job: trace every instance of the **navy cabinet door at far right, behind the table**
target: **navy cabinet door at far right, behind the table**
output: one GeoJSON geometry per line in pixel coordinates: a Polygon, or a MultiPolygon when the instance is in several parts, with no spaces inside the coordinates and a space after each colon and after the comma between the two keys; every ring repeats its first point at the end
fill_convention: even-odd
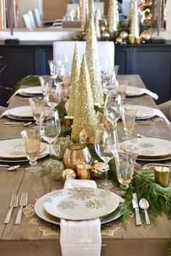
{"type": "Polygon", "coordinates": [[[146,87],[157,93],[157,104],[171,99],[171,48],[144,46],[133,49],[133,74],[138,74],[146,87]]]}

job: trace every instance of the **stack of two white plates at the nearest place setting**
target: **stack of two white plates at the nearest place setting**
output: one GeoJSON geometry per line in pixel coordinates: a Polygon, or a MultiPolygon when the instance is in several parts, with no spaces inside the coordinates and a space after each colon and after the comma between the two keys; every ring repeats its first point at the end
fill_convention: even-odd
{"type": "Polygon", "coordinates": [[[77,187],[59,189],[43,195],[35,205],[38,217],[50,223],[60,224],[60,218],[66,220],[90,220],[101,218],[108,223],[120,217],[118,208],[123,199],[111,191],[77,187]]]}

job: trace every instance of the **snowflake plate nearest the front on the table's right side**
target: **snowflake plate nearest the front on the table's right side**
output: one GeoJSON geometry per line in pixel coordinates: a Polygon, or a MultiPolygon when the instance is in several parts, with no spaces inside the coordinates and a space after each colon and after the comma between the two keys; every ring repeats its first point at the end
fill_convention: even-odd
{"type": "MultiPolygon", "coordinates": [[[[138,150],[138,158],[146,159],[157,157],[169,157],[171,154],[171,141],[158,138],[138,138],[124,141],[121,144],[130,144],[138,150]]],[[[160,159],[161,160],[161,159],[160,159]]]]}

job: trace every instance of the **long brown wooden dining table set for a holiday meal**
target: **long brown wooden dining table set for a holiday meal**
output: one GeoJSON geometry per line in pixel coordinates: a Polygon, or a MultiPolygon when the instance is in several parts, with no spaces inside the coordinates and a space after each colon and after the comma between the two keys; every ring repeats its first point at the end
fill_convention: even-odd
{"type": "MultiPolygon", "coordinates": [[[[144,88],[145,85],[139,75],[118,75],[118,80],[129,80],[129,86],[144,88]]],[[[16,95],[9,104],[9,109],[29,105],[28,99],[20,100],[22,96],[16,95]]],[[[151,96],[130,97],[125,100],[128,104],[141,104],[157,107],[151,96]]],[[[161,117],[152,118],[155,125],[135,125],[133,134],[143,133],[145,136],[164,136],[171,139],[171,130],[161,117]]],[[[0,139],[6,137],[21,137],[20,132],[25,128],[22,125],[14,127],[4,126],[9,118],[0,119],[0,139]]],[[[29,126],[29,128],[32,126],[29,126]]],[[[121,122],[118,123],[119,136],[124,134],[121,122]]],[[[43,160],[40,160],[41,164],[43,160]]],[[[2,163],[2,162],[1,162],[2,163]]],[[[12,194],[28,192],[28,205],[34,205],[36,199],[44,194],[57,189],[62,189],[64,183],[55,181],[49,176],[41,176],[41,172],[30,173],[24,167],[15,171],[7,168],[0,169],[0,255],[1,256],[60,256],[62,255],[59,236],[43,236],[37,225],[30,224],[33,216],[22,215],[20,225],[14,225],[17,209],[12,212],[9,224],[4,224],[4,219],[9,210],[12,194]]],[[[46,226],[46,221],[43,224],[46,226]]],[[[101,256],[167,256],[168,241],[171,236],[171,220],[166,215],[157,218],[156,225],[136,226],[135,215],[130,216],[126,229],[120,222],[114,220],[114,235],[102,235],[101,256]]],[[[86,255],[86,254],[85,254],[86,255]]],[[[87,254],[88,255],[88,254],[87,254]]],[[[91,256],[91,255],[88,255],[91,256]]]]}

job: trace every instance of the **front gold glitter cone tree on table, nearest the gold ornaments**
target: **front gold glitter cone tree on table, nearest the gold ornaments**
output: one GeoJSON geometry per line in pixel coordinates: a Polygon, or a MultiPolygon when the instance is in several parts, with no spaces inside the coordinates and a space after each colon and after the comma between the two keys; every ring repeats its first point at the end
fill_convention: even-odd
{"type": "MultiPolygon", "coordinates": [[[[91,56],[88,57],[89,59],[91,56]]],[[[75,98],[74,121],[72,125],[71,138],[78,141],[80,131],[86,125],[96,124],[96,112],[93,107],[93,96],[91,83],[86,64],[86,57],[83,55],[83,62],[80,67],[80,78],[78,83],[78,94],[75,98]]]]}

